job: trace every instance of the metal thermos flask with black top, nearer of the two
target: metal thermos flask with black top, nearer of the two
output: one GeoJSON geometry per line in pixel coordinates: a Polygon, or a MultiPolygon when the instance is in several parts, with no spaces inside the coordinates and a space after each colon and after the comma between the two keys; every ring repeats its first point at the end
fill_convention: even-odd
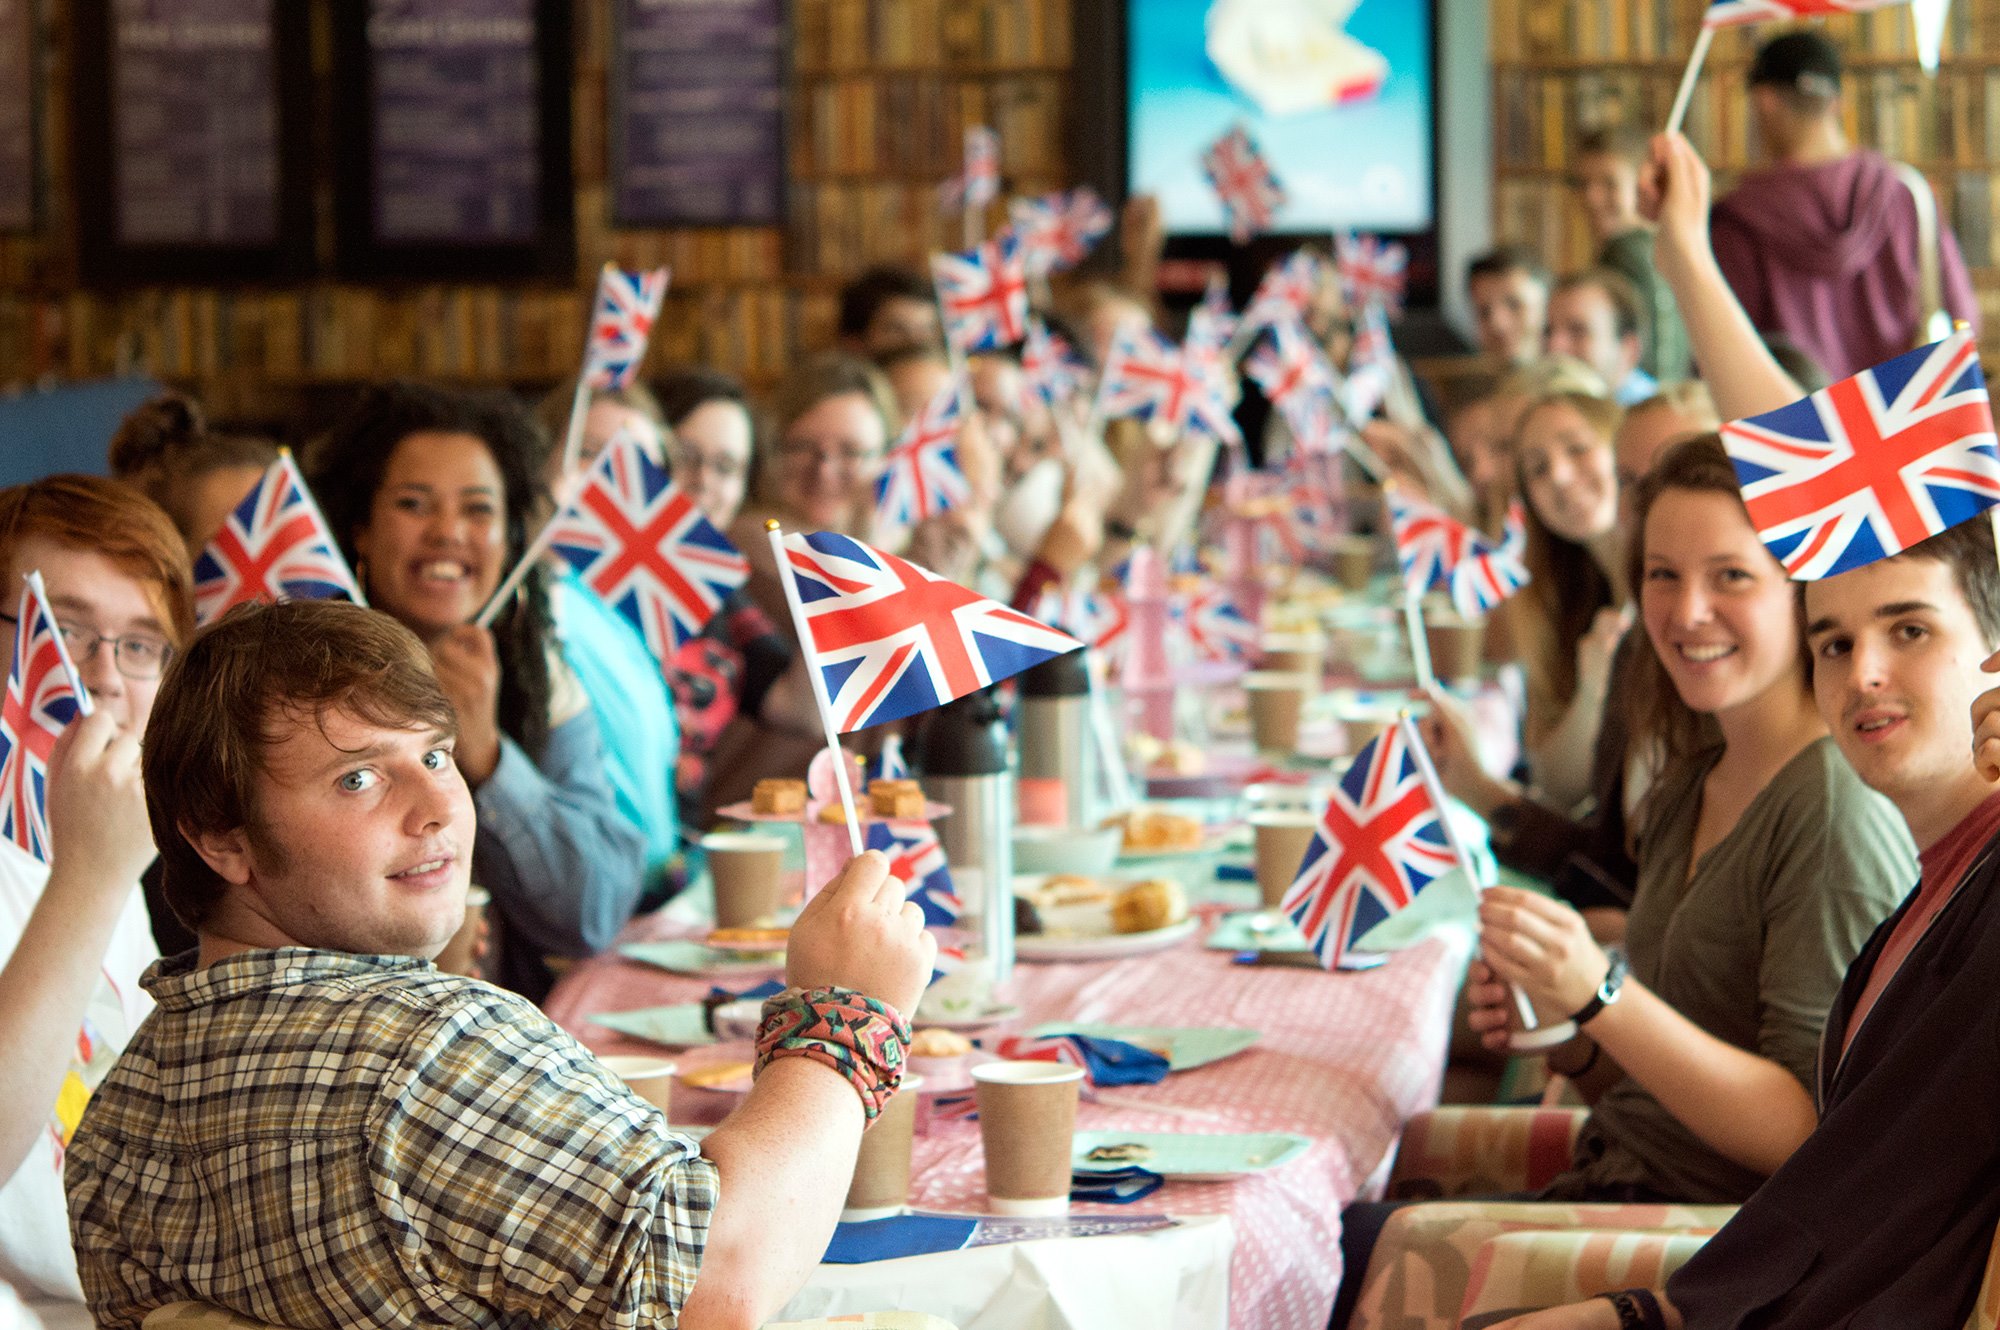
{"type": "Polygon", "coordinates": [[[964,904],[960,924],[978,934],[992,982],[1004,984],[1014,976],[1014,776],[996,688],[932,712],[920,758],[924,790],[952,806],[938,844],[964,904]]]}

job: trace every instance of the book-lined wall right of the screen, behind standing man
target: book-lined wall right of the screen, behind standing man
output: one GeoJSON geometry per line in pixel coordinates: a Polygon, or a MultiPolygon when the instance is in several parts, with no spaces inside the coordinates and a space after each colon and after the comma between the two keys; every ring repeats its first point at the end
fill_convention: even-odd
{"type": "MultiPolygon", "coordinates": [[[[1590,258],[1568,192],[1570,144],[1598,124],[1658,126],[1706,0],[1492,0],[1494,222],[1562,268],[1590,258]]],[[[1938,194],[1980,294],[1982,340],[2000,356],[2000,4],[1952,6],[1938,72],[1916,60],[1910,10],[1830,18],[1848,62],[1848,136],[1920,168],[1938,194]]],[[[1770,26],[1716,34],[1688,110],[1688,138],[1716,192],[1758,162],[1744,72],[1770,26]]]]}

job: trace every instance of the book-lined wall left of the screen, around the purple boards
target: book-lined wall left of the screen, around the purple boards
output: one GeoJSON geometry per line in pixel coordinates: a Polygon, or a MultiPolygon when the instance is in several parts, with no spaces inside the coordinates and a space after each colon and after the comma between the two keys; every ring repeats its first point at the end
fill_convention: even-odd
{"type": "Polygon", "coordinates": [[[768,386],[832,340],[846,278],[874,262],[922,264],[956,240],[936,188],[958,170],[968,124],[1000,132],[1010,190],[1066,182],[1070,0],[792,0],[786,224],[618,228],[606,188],[610,0],[574,0],[574,284],[88,290],[68,198],[68,10],[42,0],[42,220],[0,234],[0,386],[130,368],[240,418],[284,418],[302,396],[386,376],[536,390],[574,370],[606,260],[674,268],[650,368],[714,364],[768,386]]]}

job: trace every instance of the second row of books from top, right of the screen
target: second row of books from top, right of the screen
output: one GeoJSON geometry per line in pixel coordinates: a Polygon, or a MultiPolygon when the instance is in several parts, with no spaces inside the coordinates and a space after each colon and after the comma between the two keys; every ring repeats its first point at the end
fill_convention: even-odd
{"type": "MultiPolygon", "coordinates": [[[[1590,126],[1658,126],[1680,76],[1658,66],[1502,70],[1494,86],[1502,170],[1560,172],[1590,126]]],[[[1842,100],[1848,138],[1924,170],[2000,160],[2000,64],[1856,70],[1842,100]]],[[[1740,80],[1704,76],[1688,104],[1688,138],[1718,170],[1758,160],[1756,126],[1740,80]]]]}

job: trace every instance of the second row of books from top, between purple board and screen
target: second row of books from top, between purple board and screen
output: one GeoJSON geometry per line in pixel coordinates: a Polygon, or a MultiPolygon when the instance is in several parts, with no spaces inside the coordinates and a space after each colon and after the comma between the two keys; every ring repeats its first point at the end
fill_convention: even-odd
{"type": "Polygon", "coordinates": [[[1064,80],[838,78],[800,88],[792,116],[794,180],[870,174],[942,182],[958,172],[966,128],[978,124],[1000,134],[1004,178],[1050,176],[1062,150],[1064,80]]]}

